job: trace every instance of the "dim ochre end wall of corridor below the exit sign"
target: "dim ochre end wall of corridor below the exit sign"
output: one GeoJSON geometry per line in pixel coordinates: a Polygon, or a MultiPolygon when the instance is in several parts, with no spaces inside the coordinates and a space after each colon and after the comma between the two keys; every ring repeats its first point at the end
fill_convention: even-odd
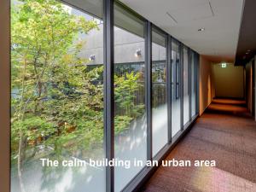
{"type": "Polygon", "coordinates": [[[216,97],[244,98],[243,67],[227,63],[212,65],[216,97]]]}

